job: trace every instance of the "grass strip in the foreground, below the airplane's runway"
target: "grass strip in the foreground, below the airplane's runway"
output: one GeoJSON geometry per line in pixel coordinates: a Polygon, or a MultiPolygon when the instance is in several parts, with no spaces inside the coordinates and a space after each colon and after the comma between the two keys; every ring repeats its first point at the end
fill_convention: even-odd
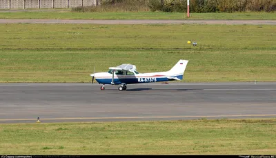
{"type": "Polygon", "coordinates": [[[276,119],[0,124],[0,155],[274,155],[276,119]]]}

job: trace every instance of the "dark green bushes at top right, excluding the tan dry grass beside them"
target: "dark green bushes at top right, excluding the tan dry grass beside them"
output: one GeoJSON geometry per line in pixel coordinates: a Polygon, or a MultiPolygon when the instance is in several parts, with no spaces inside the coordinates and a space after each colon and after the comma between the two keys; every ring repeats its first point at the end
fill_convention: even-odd
{"type": "MultiPolygon", "coordinates": [[[[152,11],[186,12],[187,0],[101,0],[102,4],[127,3],[152,11]]],[[[190,12],[274,12],[276,0],[190,0],[190,12]]]]}

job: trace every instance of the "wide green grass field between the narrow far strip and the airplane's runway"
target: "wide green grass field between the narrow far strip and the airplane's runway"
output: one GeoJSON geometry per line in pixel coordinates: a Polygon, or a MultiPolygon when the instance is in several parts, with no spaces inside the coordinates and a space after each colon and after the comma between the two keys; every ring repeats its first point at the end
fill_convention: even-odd
{"type": "Polygon", "coordinates": [[[132,63],[184,81],[275,81],[276,26],[1,24],[0,82],[90,82],[132,63]],[[187,41],[197,41],[197,46],[187,41]]]}

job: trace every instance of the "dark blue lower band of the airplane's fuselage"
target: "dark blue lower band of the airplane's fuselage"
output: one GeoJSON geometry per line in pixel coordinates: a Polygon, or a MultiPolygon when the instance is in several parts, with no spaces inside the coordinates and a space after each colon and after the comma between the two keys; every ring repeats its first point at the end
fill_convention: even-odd
{"type": "MultiPolygon", "coordinates": [[[[172,77],[177,77],[178,79],[183,79],[183,75],[178,75],[178,76],[172,76],[172,77]]],[[[134,84],[134,83],[150,83],[150,82],[159,82],[159,81],[172,81],[173,79],[168,79],[167,77],[137,77],[137,78],[119,78],[119,79],[114,79],[115,84],[121,84],[121,83],[126,83],[126,84],[134,84]],[[138,78],[139,81],[138,81],[138,78]],[[151,79],[150,79],[151,78],[151,79]],[[146,81],[145,81],[146,79],[146,81]],[[155,81],[156,79],[156,81],[155,81]],[[142,81],[141,81],[142,80],[142,81]],[[149,80],[149,81],[148,81],[149,80]]],[[[112,79],[97,79],[96,81],[101,84],[111,84],[112,79]]]]}

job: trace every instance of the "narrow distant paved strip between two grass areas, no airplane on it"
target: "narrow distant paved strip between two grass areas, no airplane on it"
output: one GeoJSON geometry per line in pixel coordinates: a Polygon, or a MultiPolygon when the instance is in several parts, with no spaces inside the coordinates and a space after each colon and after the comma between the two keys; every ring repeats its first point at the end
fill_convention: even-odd
{"type": "Polygon", "coordinates": [[[118,19],[118,20],[85,20],[85,19],[0,19],[0,23],[90,23],[90,24],[226,24],[226,25],[276,25],[276,20],[215,20],[215,19],[118,19]]]}

